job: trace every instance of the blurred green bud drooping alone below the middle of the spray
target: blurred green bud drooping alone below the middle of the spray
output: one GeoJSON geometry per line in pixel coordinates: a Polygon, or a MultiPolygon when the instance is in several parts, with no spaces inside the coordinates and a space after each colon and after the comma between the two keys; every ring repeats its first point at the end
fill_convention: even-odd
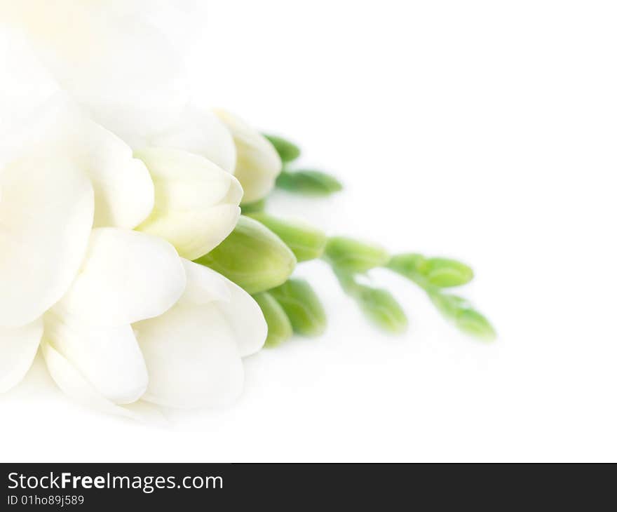
{"type": "Polygon", "coordinates": [[[354,296],[364,314],[380,328],[394,334],[407,330],[407,316],[388,290],[357,285],[354,296]]]}

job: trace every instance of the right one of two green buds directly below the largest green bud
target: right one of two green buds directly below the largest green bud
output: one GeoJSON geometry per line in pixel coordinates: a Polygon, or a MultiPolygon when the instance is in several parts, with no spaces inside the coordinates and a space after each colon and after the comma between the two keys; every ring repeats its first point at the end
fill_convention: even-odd
{"type": "Polygon", "coordinates": [[[324,332],[325,311],[319,297],[304,279],[290,279],[269,293],[283,307],[294,332],[304,336],[318,336],[324,332]]]}

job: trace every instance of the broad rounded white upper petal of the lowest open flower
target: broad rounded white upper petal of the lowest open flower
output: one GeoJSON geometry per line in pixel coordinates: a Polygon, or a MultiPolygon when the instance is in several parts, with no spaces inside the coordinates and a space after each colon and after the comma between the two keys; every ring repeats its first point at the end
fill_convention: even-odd
{"type": "Polygon", "coordinates": [[[137,231],[97,228],[79,276],[56,309],[90,325],[125,325],[167,311],[185,285],[170,243],[137,231]]]}

